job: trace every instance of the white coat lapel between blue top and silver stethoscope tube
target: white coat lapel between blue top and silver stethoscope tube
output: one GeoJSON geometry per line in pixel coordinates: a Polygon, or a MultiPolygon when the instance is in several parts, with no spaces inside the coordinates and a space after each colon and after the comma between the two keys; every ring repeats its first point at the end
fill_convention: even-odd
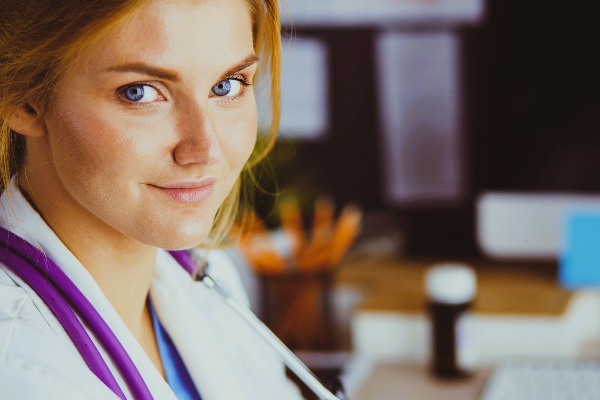
{"type": "MultiPolygon", "coordinates": [[[[208,260],[212,276],[226,267],[213,263],[210,255],[208,260]]],[[[163,250],[157,255],[150,295],[203,400],[302,398],[264,339],[214,289],[193,282],[163,250]]]]}

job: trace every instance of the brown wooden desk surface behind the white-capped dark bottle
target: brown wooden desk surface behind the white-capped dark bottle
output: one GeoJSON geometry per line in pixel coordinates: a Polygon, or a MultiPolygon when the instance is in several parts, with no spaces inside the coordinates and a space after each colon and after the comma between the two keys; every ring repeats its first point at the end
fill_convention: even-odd
{"type": "MultiPolygon", "coordinates": [[[[441,261],[349,256],[340,265],[336,283],[364,288],[362,311],[423,312],[425,270],[441,261]]],[[[475,267],[478,276],[475,312],[559,316],[572,297],[557,283],[556,265],[466,264],[475,267]]]]}

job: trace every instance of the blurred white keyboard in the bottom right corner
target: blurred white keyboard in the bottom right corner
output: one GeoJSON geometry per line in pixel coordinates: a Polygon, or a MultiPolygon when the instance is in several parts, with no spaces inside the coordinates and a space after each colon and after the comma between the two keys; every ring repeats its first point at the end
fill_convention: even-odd
{"type": "Polygon", "coordinates": [[[481,400],[600,400],[600,360],[500,363],[481,400]]]}

